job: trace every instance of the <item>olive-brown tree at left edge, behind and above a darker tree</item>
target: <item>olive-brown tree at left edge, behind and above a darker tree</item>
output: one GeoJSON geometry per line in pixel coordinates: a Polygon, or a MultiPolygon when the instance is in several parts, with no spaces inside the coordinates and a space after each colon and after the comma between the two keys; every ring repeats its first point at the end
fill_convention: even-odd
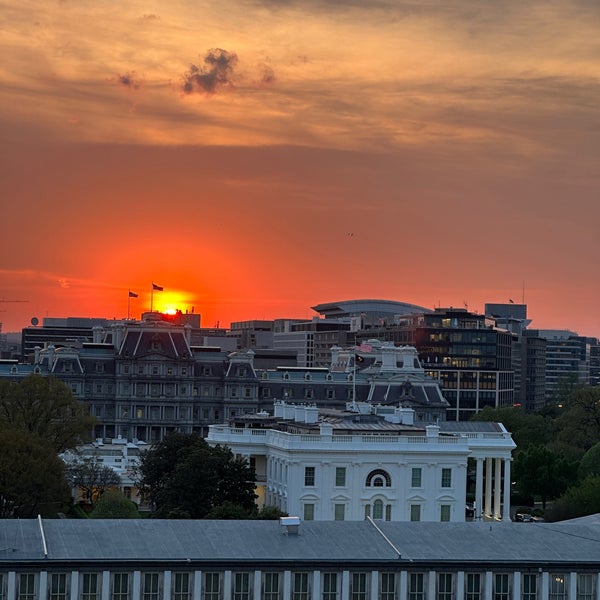
{"type": "Polygon", "coordinates": [[[0,381],[0,429],[27,431],[64,452],[89,439],[94,423],[87,406],[56,377],[0,381]]]}

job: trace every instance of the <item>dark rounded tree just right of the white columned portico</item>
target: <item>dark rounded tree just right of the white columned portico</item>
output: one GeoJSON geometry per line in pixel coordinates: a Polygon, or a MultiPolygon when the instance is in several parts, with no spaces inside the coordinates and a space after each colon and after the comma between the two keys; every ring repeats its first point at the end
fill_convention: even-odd
{"type": "Polygon", "coordinates": [[[560,496],[577,478],[576,465],[545,446],[529,446],[514,463],[514,479],[523,496],[539,496],[542,506],[560,496]]]}

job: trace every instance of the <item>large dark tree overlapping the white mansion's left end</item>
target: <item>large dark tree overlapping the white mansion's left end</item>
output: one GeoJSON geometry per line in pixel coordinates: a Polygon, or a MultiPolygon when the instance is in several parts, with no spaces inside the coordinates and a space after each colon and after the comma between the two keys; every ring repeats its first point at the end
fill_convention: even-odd
{"type": "Polygon", "coordinates": [[[205,518],[225,503],[255,508],[255,474],[229,448],[211,447],[193,434],[173,433],[141,457],[138,487],[154,507],[153,515],[205,518]]]}

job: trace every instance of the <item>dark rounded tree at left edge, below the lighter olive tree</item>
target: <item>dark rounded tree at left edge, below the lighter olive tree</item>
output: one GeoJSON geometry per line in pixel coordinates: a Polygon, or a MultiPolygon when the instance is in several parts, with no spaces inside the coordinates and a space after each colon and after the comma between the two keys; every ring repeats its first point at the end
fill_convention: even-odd
{"type": "Polygon", "coordinates": [[[0,431],[0,517],[54,515],[70,503],[65,465],[26,431],[0,431]]]}

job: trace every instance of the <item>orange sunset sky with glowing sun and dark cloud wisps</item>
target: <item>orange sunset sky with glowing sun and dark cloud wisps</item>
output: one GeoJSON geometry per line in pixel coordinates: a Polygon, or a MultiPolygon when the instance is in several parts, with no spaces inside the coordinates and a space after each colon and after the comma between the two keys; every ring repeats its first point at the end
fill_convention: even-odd
{"type": "Polygon", "coordinates": [[[0,0],[0,321],[381,298],[600,336],[600,3],[0,0]],[[6,302],[26,300],[26,302],[6,302]]]}

